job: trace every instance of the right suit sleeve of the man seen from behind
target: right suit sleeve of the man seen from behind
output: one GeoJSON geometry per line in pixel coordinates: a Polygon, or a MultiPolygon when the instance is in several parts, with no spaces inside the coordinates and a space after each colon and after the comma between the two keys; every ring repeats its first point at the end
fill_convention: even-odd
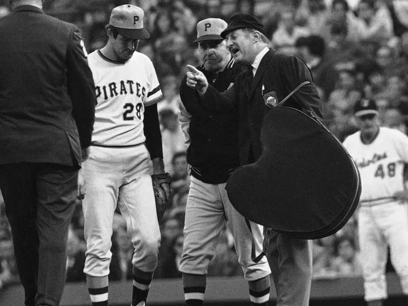
{"type": "Polygon", "coordinates": [[[67,89],[72,101],[72,113],[77,123],[81,147],[91,143],[95,119],[95,85],[88,66],[84,40],[75,27],[71,30],[66,54],[67,89]]]}

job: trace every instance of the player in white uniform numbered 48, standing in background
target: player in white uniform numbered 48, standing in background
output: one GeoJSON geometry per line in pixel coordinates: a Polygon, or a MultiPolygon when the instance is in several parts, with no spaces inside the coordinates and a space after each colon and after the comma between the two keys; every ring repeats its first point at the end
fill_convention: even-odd
{"type": "Polygon", "coordinates": [[[358,214],[365,300],[381,306],[387,298],[388,246],[391,262],[408,295],[408,214],[403,167],[408,162],[408,137],[380,127],[374,100],[354,106],[360,131],[348,136],[344,146],[357,164],[362,181],[358,214]]]}

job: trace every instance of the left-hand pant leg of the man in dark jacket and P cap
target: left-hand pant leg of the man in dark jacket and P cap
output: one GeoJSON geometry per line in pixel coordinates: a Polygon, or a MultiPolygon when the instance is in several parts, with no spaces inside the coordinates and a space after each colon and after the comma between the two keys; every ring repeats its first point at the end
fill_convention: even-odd
{"type": "Polygon", "coordinates": [[[208,264],[226,219],[217,185],[203,183],[191,176],[184,224],[180,271],[207,274],[208,264]]]}

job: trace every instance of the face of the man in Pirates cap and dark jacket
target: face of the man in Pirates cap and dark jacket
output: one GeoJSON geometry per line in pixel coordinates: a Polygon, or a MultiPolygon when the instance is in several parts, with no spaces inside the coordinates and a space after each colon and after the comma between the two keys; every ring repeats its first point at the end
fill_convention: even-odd
{"type": "Polygon", "coordinates": [[[205,40],[198,43],[200,59],[204,68],[216,72],[225,66],[230,51],[226,47],[225,40],[205,40]]]}

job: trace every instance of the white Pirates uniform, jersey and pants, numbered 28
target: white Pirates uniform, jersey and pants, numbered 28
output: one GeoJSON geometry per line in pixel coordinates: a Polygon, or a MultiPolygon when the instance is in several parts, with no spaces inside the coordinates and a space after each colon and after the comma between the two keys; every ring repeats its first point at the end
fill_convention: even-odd
{"type": "Polygon", "coordinates": [[[145,106],[162,99],[155,68],[135,52],[125,63],[107,59],[96,50],[88,56],[97,105],[83,200],[87,243],[84,272],[109,274],[112,223],[116,205],[126,220],[135,248],[134,267],[152,272],[157,266],[160,230],[144,144],[145,106]]]}

